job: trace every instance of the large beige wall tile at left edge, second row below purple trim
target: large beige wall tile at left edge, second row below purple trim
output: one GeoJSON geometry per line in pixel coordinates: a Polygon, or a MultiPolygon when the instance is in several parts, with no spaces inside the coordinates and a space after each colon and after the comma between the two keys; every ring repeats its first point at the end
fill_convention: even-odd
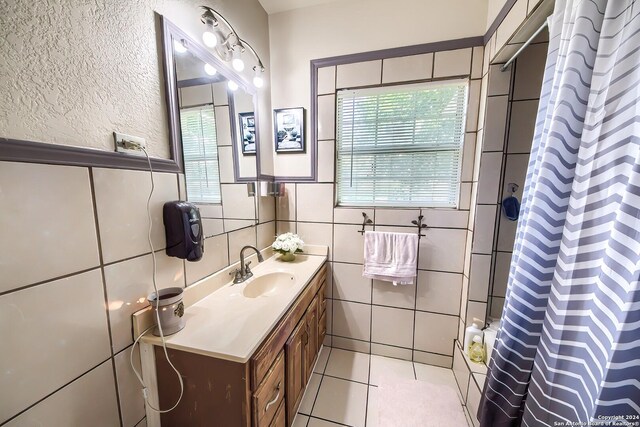
{"type": "Polygon", "coordinates": [[[111,356],[99,269],[0,296],[0,324],[0,422],[111,356]]]}

